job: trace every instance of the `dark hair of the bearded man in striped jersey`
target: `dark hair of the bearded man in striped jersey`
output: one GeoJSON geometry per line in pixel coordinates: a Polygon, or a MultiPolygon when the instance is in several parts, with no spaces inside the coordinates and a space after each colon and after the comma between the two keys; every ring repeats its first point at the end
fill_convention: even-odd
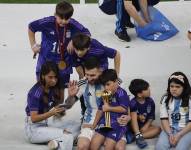
{"type": "Polygon", "coordinates": [[[85,60],[83,67],[87,70],[94,69],[94,68],[100,68],[100,62],[97,57],[89,57],[85,60]]]}

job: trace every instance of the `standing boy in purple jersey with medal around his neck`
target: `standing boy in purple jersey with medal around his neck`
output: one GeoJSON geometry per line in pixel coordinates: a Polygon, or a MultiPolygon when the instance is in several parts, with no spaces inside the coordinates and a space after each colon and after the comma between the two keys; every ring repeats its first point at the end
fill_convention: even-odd
{"type": "Polygon", "coordinates": [[[39,53],[36,75],[39,79],[39,72],[42,64],[51,60],[59,65],[60,69],[60,86],[61,99],[64,99],[64,88],[72,73],[72,60],[67,52],[67,48],[71,49],[71,38],[78,32],[90,35],[87,28],[76,20],[72,19],[73,7],[66,1],[61,1],[56,5],[55,16],[45,17],[29,24],[29,40],[34,55],[39,53]],[[37,44],[35,33],[41,32],[41,44],[37,44]]]}

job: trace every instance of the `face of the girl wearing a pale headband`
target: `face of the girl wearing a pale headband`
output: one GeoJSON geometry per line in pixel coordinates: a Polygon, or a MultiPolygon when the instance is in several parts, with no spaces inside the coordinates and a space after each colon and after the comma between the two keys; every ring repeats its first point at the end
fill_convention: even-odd
{"type": "Polygon", "coordinates": [[[183,87],[180,84],[174,82],[170,83],[170,93],[174,97],[179,97],[183,92],[183,87]]]}

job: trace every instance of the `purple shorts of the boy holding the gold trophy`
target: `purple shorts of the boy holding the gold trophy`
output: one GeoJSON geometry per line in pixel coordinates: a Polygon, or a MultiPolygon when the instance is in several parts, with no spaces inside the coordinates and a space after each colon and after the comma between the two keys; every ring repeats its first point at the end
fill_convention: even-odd
{"type": "Polygon", "coordinates": [[[119,129],[113,129],[110,131],[103,131],[101,129],[96,129],[95,132],[103,135],[106,138],[110,138],[116,142],[121,140],[121,138],[125,135],[127,131],[127,128],[124,126],[121,126],[119,129]]]}

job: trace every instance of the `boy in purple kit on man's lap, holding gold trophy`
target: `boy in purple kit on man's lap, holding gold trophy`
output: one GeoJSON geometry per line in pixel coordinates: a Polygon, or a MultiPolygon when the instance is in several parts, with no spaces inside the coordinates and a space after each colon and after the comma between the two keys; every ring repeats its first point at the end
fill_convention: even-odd
{"type": "Polygon", "coordinates": [[[127,126],[119,125],[117,118],[121,115],[129,114],[129,97],[127,92],[119,86],[115,70],[108,69],[103,71],[100,80],[104,85],[105,91],[110,91],[112,97],[109,103],[102,98],[102,103],[93,123],[93,129],[96,128],[96,133],[92,138],[90,147],[91,150],[97,150],[104,143],[105,149],[110,150],[115,148],[116,143],[123,139],[126,133],[127,126]],[[103,130],[101,128],[105,124],[106,112],[110,112],[112,130],[103,130]]]}

